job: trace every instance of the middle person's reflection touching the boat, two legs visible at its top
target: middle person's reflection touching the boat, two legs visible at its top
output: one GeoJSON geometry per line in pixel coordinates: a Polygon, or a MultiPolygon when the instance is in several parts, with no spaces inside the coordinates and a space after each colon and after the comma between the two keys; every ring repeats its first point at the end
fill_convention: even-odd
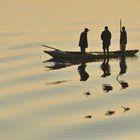
{"type": "Polygon", "coordinates": [[[109,65],[109,58],[104,58],[104,61],[101,65],[101,69],[103,71],[103,75],[101,75],[101,77],[106,77],[106,76],[109,76],[111,73],[110,73],[110,65],[109,65]]]}

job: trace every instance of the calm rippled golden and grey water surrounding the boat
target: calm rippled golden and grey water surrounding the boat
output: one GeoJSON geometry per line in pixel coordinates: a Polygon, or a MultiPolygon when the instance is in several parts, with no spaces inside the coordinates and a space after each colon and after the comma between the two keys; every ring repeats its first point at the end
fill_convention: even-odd
{"type": "Polygon", "coordinates": [[[51,57],[41,46],[77,51],[79,34],[88,27],[87,51],[101,51],[100,33],[108,25],[110,49],[117,50],[121,17],[127,48],[140,49],[139,4],[1,0],[0,139],[139,140],[140,53],[110,59],[104,69],[103,60],[45,62],[51,57]]]}

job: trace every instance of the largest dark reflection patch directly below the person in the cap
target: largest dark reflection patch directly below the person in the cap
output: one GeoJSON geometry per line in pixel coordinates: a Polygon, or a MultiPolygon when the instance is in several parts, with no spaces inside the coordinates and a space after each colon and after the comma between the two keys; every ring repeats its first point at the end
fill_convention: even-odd
{"type": "Polygon", "coordinates": [[[78,72],[80,74],[80,81],[86,81],[89,78],[89,74],[85,71],[86,64],[82,62],[78,67],[78,72]]]}

